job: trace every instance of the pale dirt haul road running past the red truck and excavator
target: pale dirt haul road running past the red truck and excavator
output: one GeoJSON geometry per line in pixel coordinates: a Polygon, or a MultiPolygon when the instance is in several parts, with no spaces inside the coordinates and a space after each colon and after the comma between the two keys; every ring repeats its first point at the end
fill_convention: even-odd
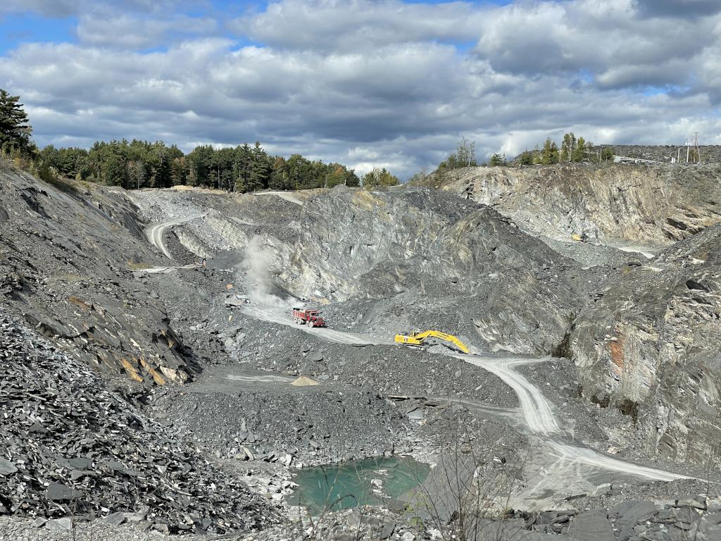
{"type": "MultiPolygon", "coordinates": [[[[357,333],[345,333],[340,330],[327,328],[310,328],[306,325],[298,326],[293,323],[293,320],[287,315],[285,309],[276,307],[244,307],[243,312],[260,320],[300,328],[306,333],[317,335],[329,342],[355,346],[363,344],[396,345],[391,340],[373,338],[357,333]]],[[[538,462],[539,466],[539,472],[536,477],[538,482],[535,486],[528,487],[523,491],[523,500],[538,503],[539,497],[535,494],[536,492],[547,492],[552,486],[568,488],[573,484],[574,480],[571,477],[574,474],[579,476],[579,482],[585,481],[588,483],[587,480],[593,478],[594,472],[598,472],[598,470],[618,472],[623,475],[633,475],[659,481],[689,479],[689,476],[686,475],[635,465],[601,454],[593,449],[568,443],[567,440],[570,439],[570,437],[567,436],[561,428],[552,403],[544,397],[538,387],[529,382],[523,374],[515,369],[517,366],[548,361],[549,358],[496,358],[479,355],[459,355],[456,353],[452,353],[452,355],[495,374],[513,389],[513,392],[516,392],[518,396],[518,403],[520,404],[518,410],[514,412],[516,413],[516,417],[521,416],[522,424],[525,426],[526,431],[529,435],[535,436],[542,447],[544,447],[544,451],[540,453],[541,456],[536,456],[533,459],[538,462]],[[549,456],[554,458],[553,462],[548,462],[549,456]]],[[[453,399],[451,398],[451,400],[453,399]]]]}

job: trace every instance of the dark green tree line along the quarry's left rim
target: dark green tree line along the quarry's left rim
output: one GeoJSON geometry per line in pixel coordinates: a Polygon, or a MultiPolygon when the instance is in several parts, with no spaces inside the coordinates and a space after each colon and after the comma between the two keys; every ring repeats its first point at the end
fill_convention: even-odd
{"type": "Polygon", "coordinates": [[[38,149],[31,133],[19,96],[0,89],[0,153],[43,180],[65,177],[127,189],[190,185],[229,192],[399,184],[385,169],[373,169],[361,179],[343,164],[310,160],[301,154],[272,156],[259,141],[228,148],[200,145],[188,154],[163,141],[137,139],[98,141],[90,149],[53,145],[38,149]]]}

